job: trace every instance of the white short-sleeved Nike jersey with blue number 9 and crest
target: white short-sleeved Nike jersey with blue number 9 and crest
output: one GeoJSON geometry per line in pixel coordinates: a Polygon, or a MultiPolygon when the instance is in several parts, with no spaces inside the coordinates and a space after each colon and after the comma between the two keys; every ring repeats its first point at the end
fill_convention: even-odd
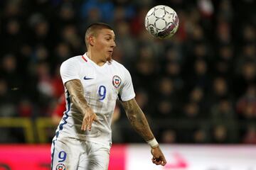
{"type": "Polygon", "coordinates": [[[92,129],[81,130],[83,115],[70,101],[70,94],[65,88],[66,108],[56,130],[58,137],[74,137],[79,140],[100,142],[110,145],[112,114],[117,98],[129,101],[135,97],[132,78],[128,70],[112,60],[102,67],[92,62],[87,55],[72,57],[60,66],[60,76],[65,82],[79,79],[88,105],[97,115],[99,122],[92,122],[92,129]]]}

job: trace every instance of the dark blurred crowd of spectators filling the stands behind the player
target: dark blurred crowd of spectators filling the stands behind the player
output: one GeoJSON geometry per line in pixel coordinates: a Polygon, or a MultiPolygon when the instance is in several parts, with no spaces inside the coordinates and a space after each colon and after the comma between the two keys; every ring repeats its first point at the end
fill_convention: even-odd
{"type": "MultiPolygon", "coordinates": [[[[132,74],[137,101],[159,142],[256,144],[253,4],[1,0],[0,117],[50,118],[63,95],[60,64],[84,54],[86,27],[101,21],[114,28],[114,60],[132,74]],[[158,4],[178,13],[178,32],[169,40],[152,38],[144,28],[146,12],[158,4]]],[[[114,120],[114,142],[142,141],[124,131],[122,107],[114,120]]]]}

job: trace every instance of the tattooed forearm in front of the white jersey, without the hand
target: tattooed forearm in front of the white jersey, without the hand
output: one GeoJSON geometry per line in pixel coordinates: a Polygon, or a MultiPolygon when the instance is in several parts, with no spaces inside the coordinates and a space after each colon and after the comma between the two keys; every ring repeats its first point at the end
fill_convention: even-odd
{"type": "Polygon", "coordinates": [[[75,107],[84,114],[85,109],[88,106],[85,97],[83,96],[82,84],[78,79],[70,80],[65,84],[70,94],[70,99],[74,103],[75,107]]]}

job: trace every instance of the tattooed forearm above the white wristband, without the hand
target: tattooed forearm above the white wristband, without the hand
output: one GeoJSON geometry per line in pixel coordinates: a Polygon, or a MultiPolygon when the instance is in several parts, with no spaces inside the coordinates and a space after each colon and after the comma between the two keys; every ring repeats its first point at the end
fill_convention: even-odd
{"type": "Polygon", "coordinates": [[[127,118],[132,124],[134,130],[136,130],[145,141],[153,139],[154,135],[149,128],[149,123],[137,102],[132,99],[132,101],[123,102],[122,104],[127,113],[127,118]]]}

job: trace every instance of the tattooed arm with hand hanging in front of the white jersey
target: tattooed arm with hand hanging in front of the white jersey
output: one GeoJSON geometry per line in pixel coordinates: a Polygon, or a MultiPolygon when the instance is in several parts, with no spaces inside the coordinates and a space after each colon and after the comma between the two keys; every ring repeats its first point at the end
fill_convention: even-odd
{"type": "Polygon", "coordinates": [[[84,115],[82,120],[81,130],[91,130],[92,121],[97,121],[97,115],[92,111],[92,108],[88,106],[81,81],[79,79],[73,79],[65,83],[65,87],[68,89],[70,99],[74,103],[75,107],[84,115]]]}

